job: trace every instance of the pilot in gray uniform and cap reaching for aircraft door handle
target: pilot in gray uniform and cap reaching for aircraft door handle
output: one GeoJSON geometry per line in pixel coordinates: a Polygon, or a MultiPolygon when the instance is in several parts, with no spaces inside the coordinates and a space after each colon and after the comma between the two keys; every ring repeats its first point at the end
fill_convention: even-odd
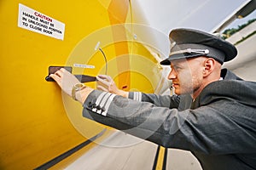
{"type": "Polygon", "coordinates": [[[61,69],[50,77],[84,107],[83,116],[167,148],[189,150],[208,170],[256,169],[256,82],[227,69],[236,47],[193,29],[170,32],[168,79],[175,95],[125,92],[111,77],[98,89],[61,69]]]}

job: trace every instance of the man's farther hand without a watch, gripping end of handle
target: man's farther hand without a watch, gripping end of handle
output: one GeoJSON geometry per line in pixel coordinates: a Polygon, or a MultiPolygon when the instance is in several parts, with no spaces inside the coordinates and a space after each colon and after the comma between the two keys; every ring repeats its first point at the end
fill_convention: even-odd
{"type": "Polygon", "coordinates": [[[108,77],[107,75],[99,75],[96,79],[97,89],[128,98],[128,92],[117,88],[111,77],[108,77]]]}

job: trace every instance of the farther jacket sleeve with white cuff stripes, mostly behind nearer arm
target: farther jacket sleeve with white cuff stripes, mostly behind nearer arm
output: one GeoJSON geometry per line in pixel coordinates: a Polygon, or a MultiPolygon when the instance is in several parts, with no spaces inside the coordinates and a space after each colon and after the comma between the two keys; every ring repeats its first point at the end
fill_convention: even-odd
{"type": "Polygon", "coordinates": [[[129,92],[128,98],[168,108],[177,108],[180,101],[180,97],[177,95],[143,94],[142,92],[129,92]]]}

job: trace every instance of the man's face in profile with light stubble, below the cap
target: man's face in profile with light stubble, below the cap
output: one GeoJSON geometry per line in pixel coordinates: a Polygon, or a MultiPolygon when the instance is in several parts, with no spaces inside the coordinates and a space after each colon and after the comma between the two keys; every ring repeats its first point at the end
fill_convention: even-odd
{"type": "Polygon", "coordinates": [[[168,79],[172,80],[175,94],[193,94],[201,88],[203,75],[201,58],[172,60],[168,79]]]}

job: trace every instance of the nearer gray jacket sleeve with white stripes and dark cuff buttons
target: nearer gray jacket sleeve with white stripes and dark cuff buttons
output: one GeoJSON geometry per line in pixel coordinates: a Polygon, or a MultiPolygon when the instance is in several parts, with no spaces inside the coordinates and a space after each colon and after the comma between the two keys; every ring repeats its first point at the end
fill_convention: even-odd
{"type": "Polygon", "coordinates": [[[255,109],[247,111],[248,120],[239,116],[247,109],[240,106],[237,116],[226,115],[235,107],[223,100],[178,111],[95,90],[84,102],[83,116],[168,148],[204,154],[254,152],[255,109]]]}

